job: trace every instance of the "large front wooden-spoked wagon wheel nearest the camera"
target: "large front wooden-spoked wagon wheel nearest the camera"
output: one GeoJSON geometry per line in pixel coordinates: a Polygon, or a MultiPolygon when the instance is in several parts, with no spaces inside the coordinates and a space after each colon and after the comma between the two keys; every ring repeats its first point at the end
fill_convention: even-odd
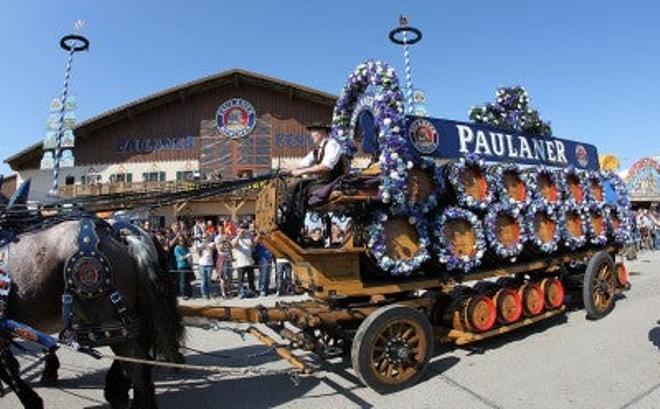
{"type": "Polygon", "coordinates": [[[376,310],[355,334],[353,369],[378,393],[405,389],[424,374],[433,354],[433,331],[421,312],[401,305],[376,310]]]}

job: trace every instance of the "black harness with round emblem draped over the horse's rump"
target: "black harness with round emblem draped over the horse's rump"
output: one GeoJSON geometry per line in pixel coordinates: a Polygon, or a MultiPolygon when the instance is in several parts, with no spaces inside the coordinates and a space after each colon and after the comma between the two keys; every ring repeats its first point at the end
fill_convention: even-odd
{"type": "Polygon", "coordinates": [[[78,251],[64,266],[65,290],[62,294],[62,320],[64,329],[60,340],[77,342],[88,347],[107,346],[135,339],[142,329],[137,313],[126,307],[115,286],[114,271],[107,257],[99,250],[96,231],[98,219],[83,218],[78,232],[78,251]],[[76,319],[76,303],[88,304],[107,300],[113,306],[119,321],[88,325],[76,319]]]}

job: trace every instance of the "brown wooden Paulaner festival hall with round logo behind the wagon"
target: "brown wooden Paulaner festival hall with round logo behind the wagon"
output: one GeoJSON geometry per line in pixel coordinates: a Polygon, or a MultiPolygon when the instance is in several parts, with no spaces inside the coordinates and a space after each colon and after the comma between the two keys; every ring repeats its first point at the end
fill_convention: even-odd
{"type": "MultiPolygon", "coordinates": [[[[122,192],[177,191],[191,182],[271,172],[312,148],[305,125],[330,123],[335,102],[335,95],[242,69],[178,85],[76,125],[75,166],[60,169],[59,193],[120,200],[122,192]]],[[[32,179],[32,199],[52,188],[44,157],[39,142],[5,160],[18,183],[32,179]]],[[[236,218],[254,213],[254,199],[211,197],[150,214],[161,224],[186,216],[236,218]]]]}

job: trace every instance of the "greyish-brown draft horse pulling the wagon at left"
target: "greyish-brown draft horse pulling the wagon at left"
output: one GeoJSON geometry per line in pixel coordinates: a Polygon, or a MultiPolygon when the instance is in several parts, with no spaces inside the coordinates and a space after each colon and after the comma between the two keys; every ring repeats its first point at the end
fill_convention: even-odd
{"type": "MultiPolygon", "coordinates": [[[[7,318],[45,333],[62,329],[63,270],[68,258],[78,249],[80,223],[80,220],[63,221],[23,233],[18,242],[10,245],[12,290],[7,318]]],[[[137,338],[111,345],[113,352],[139,359],[180,361],[183,326],[177,312],[176,293],[166,266],[160,262],[162,258],[159,260],[154,240],[144,232],[118,239],[107,224],[106,228],[97,228],[97,235],[98,250],[114,271],[116,289],[126,307],[134,310],[144,323],[137,338]]],[[[77,300],[73,304],[73,317],[74,322],[88,326],[118,321],[107,295],[77,300]]],[[[4,378],[26,408],[43,407],[41,398],[18,377],[18,363],[11,351],[8,348],[4,351],[7,352],[0,357],[0,378],[4,378]]],[[[48,355],[46,364],[44,375],[56,379],[59,364],[54,354],[48,355]]],[[[112,408],[129,407],[131,387],[133,407],[156,408],[151,366],[114,361],[104,389],[112,408]]]]}

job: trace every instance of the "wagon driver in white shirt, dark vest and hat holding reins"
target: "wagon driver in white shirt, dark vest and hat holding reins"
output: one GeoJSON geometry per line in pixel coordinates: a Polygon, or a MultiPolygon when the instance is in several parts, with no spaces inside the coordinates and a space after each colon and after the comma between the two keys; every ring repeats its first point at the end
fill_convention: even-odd
{"type": "Polygon", "coordinates": [[[296,184],[289,201],[292,211],[291,221],[294,224],[304,220],[309,196],[348,173],[350,166],[339,142],[330,138],[329,125],[312,123],[307,126],[307,131],[312,136],[314,149],[291,170],[292,176],[307,177],[296,184]]]}

